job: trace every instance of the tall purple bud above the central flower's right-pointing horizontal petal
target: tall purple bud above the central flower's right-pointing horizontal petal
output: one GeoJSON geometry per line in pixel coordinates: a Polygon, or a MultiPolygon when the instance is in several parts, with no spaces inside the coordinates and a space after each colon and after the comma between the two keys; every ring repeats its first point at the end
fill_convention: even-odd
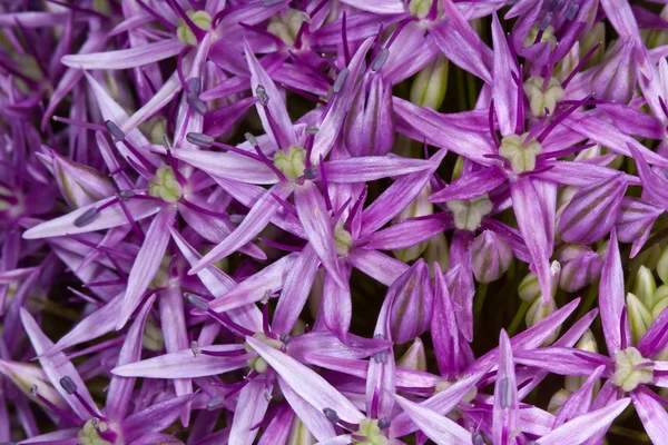
{"type": "Polygon", "coordinates": [[[392,88],[382,76],[369,79],[346,118],[345,141],[352,156],[385,156],[394,145],[392,88]]]}

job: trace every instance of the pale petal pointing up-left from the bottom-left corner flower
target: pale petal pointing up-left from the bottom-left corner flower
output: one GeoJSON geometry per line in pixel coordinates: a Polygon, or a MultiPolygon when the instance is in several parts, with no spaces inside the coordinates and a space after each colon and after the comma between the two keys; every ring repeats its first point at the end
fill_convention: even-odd
{"type": "MultiPolygon", "coordinates": [[[[75,414],[77,414],[80,418],[89,418],[90,413],[81,402],[73,395],[69,395],[62,385],[60,385],[60,379],[63,377],[69,377],[72,379],[75,385],[77,386],[77,392],[79,395],[86,400],[86,403],[95,409],[96,413],[100,414],[97,408],[97,405],[92,400],[90,393],[88,393],[88,388],[86,388],[86,384],[79,376],[77,368],[70,360],[67,359],[63,353],[55,353],[50,355],[42,355],[48,349],[53,346],[53,343],[41,332],[32,315],[24,308],[21,308],[21,322],[23,323],[23,328],[30,338],[30,343],[32,344],[32,348],[37,353],[39,357],[39,363],[42,366],[45,374],[51,380],[51,385],[60,393],[62,398],[72,407],[75,414]]],[[[100,414],[101,415],[101,414],[100,414]]]]}

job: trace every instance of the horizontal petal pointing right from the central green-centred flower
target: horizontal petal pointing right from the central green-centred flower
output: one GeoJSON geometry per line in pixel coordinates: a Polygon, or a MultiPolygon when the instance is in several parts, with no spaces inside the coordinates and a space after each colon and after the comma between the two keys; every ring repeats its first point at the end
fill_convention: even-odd
{"type": "Polygon", "coordinates": [[[366,182],[391,176],[413,174],[433,167],[431,160],[399,156],[364,156],[325,162],[327,180],[332,182],[366,182]]]}

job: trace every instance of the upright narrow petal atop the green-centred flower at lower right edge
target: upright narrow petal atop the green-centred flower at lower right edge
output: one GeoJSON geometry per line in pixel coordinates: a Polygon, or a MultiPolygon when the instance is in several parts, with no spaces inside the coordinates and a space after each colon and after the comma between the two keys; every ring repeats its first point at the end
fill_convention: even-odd
{"type": "Polygon", "coordinates": [[[617,244],[617,231],[612,229],[599,285],[601,323],[610,355],[615,355],[621,347],[621,313],[625,301],[621,257],[619,256],[619,246],[617,244]]]}

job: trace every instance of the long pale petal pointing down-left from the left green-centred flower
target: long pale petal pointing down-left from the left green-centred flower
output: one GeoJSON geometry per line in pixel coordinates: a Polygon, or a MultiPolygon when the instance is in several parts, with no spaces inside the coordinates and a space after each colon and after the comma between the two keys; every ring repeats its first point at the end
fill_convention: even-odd
{"type": "Polygon", "coordinates": [[[121,329],[135,309],[141,303],[141,296],[148,289],[150,281],[160,268],[160,263],[169,244],[169,228],[174,225],[176,211],[165,208],[150,224],[146,239],[135,259],[128,277],[128,287],[122,298],[120,315],[116,322],[116,329],[121,329]]]}

